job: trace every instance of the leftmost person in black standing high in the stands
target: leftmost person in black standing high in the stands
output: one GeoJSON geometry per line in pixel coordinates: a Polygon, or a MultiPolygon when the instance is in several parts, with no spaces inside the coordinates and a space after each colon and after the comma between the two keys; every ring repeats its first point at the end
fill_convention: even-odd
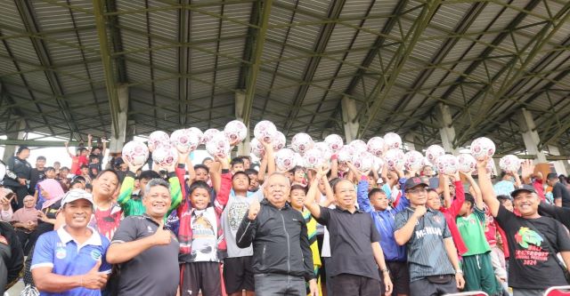
{"type": "Polygon", "coordinates": [[[24,197],[28,196],[28,185],[32,166],[26,160],[29,157],[29,148],[20,146],[16,156],[10,157],[4,176],[4,187],[12,189],[17,198],[12,199],[12,209],[15,212],[24,204],[24,197]]]}

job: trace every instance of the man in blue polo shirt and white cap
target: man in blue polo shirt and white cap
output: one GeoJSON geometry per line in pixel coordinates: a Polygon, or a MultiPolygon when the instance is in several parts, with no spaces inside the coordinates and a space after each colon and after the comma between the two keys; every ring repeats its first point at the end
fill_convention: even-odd
{"type": "Polygon", "coordinates": [[[65,225],[39,236],[31,272],[40,295],[99,296],[107,284],[109,240],[88,228],[93,196],[70,190],[61,200],[65,225]]]}

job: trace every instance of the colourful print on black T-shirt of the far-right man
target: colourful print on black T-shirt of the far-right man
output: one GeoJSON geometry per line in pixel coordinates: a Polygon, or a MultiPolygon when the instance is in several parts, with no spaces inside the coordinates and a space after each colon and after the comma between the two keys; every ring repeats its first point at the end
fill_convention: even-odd
{"type": "Polygon", "coordinates": [[[515,241],[525,250],[516,250],[515,259],[521,260],[523,265],[534,266],[539,261],[549,259],[549,252],[542,249],[544,239],[535,231],[521,227],[515,235],[515,241]]]}

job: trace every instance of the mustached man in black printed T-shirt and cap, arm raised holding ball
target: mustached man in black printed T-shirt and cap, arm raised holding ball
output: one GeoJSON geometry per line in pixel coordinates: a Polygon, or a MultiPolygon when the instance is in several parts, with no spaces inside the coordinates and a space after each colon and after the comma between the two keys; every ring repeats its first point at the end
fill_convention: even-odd
{"type": "Polygon", "coordinates": [[[532,185],[511,193],[520,216],[509,212],[497,200],[485,160],[477,161],[479,187],[489,212],[505,231],[509,242],[509,285],[514,296],[542,295],[551,286],[567,285],[558,261],[562,255],[570,266],[570,236],[557,220],[539,214],[540,198],[532,185]]]}

